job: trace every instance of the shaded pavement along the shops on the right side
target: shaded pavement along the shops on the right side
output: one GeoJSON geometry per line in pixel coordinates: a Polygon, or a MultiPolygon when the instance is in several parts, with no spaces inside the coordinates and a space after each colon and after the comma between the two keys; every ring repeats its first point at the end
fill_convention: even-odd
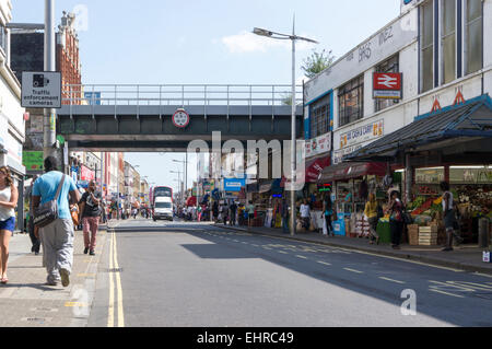
{"type": "MultiPolygon", "coordinates": [[[[353,239],[347,236],[326,236],[315,232],[297,232],[296,235],[282,233],[281,229],[266,226],[230,226],[224,224],[214,224],[214,226],[233,229],[237,231],[247,231],[255,234],[267,236],[277,236],[283,239],[293,239],[309,243],[319,243],[340,248],[350,248],[363,253],[398,257],[421,263],[433,264],[437,266],[461,269],[472,272],[482,272],[492,275],[492,264],[482,261],[482,252],[484,248],[478,245],[461,245],[454,247],[453,252],[442,252],[441,246],[410,246],[402,244],[401,249],[393,249],[389,244],[370,245],[367,239],[353,239]]],[[[492,248],[492,247],[491,247],[492,248]]]]}

